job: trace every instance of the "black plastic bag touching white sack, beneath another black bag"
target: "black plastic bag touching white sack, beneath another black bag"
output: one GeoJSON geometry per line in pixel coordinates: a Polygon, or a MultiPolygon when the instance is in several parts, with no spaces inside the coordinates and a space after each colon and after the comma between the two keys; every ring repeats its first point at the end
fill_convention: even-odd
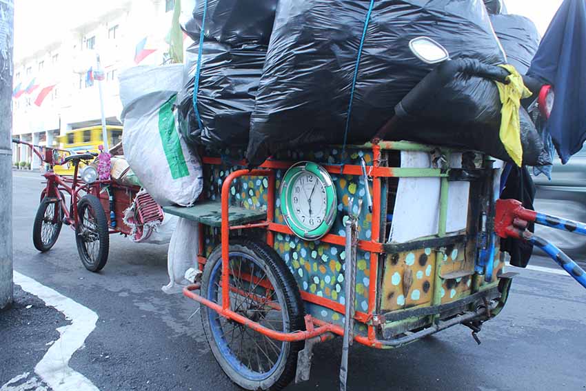
{"type": "Polygon", "coordinates": [[[232,48],[205,41],[201,54],[197,108],[193,108],[194,75],[199,43],[188,48],[188,83],[177,99],[181,133],[188,143],[221,148],[246,145],[250,114],[265,61],[265,46],[232,48]]]}

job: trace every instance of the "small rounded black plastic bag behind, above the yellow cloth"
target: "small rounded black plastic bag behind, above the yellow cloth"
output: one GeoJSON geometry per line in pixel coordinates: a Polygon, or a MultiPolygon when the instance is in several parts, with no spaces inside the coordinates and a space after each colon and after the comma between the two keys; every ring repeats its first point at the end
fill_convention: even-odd
{"type": "Polygon", "coordinates": [[[507,54],[507,62],[521,74],[527,74],[541,37],[530,19],[520,15],[491,15],[496,37],[507,54]]]}

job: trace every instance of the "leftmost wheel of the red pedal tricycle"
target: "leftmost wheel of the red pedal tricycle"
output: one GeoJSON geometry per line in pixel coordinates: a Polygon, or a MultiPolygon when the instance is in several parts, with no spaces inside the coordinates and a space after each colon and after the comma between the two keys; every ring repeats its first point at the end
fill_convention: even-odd
{"type": "Polygon", "coordinates": [[[32,243],[40,252],[50,250],[61,232],[63,225],[63,210],[59,201],[45,197],[41,200],[37,215],[32,225],[32,243]]]}

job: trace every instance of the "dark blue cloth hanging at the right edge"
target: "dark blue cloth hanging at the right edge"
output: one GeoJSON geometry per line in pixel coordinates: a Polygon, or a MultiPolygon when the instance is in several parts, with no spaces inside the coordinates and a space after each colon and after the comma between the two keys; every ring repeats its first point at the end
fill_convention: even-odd
{"type": "Polygon", "coordinates": [[[547,28],[529,74],[554,86],[547,130],[562,163],[586,140],[586,2],[565,0],[547,28]]]}

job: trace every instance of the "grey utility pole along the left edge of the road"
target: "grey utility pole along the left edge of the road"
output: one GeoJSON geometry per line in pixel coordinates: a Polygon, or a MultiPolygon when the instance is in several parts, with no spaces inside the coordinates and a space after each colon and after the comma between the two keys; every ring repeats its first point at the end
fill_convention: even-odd
{"type": "Polygon", "coordinates": [[[12,304],[12,48],[14,1],[0,0],[0,310],[12,304]]]}

